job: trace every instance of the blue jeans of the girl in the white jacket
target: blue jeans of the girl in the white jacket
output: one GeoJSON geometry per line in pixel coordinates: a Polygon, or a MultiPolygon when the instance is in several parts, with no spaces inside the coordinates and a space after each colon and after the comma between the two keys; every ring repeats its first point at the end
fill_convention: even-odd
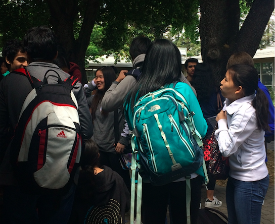
{"type": "Polygon", "coordinates": [[[268,184],[269,175],[253,182],[229,177],[226,186],[228,224],[260,224],[262,202],[268,184]]]}

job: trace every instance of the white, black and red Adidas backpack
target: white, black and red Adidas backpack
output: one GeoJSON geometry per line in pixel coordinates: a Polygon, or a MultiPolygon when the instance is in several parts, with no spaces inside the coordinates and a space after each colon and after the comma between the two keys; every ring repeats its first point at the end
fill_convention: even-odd
{"type": "Polygon", "coordinates": [[[66,193],[81,155],[78,105],[72,92],[77,78],[61,81],[56,71],[49,70],[40,81],[26,69],[15,72],[27,76],[33,88],[11,145],[10,160],[19,186],[30,194],[66,193]],[[48,84],[49,72],[58,77],[57,84],[48,84]]]}

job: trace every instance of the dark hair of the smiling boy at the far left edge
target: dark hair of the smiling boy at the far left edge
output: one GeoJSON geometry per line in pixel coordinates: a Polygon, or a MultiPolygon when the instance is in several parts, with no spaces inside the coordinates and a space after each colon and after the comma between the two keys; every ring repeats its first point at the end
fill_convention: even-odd
{"type": "Polygon", "coordinates": [[[4,59],[7,57],[7,60],[12,63],[19,51],[22,53],[25,52],[23,42],[19,39],[12,39],[6,42],[5,46],[3,47],[2,55],[4,59]]]}

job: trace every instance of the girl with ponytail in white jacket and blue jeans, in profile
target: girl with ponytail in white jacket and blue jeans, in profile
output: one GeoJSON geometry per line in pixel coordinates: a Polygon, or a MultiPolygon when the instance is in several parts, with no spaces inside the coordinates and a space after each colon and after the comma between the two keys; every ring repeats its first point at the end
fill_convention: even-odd
{"type": "Polygon", "coordinates": [[[230,161],[228,223],[259,224],[269,183],[264,147],[264,133],[269,129],[268,100],[258,88],[258,73],[251,66],[230,67],[220,84],[226,99],[216,118],[215,136],[219,150],[230,161]]]}

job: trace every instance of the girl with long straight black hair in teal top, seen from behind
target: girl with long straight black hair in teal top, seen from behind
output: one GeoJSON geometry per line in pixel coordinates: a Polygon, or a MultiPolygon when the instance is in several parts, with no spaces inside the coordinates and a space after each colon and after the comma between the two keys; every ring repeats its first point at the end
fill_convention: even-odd
{"type": "MultiPolygon", "coordinates": [[[[139,98],[149,92],[167,87],[180,79],[181,56],[178,48],[169,40],[155,40],[148,48],[142,66],[142,75],[133,89],[125,98],[125,118],[132,130],[133,105],[139,98]]],[[[176,83],[175,90],[182,94],[194,111],[194,122],[198,132],[205,136],[207,124],[199,102],[192,89],[186,83],[176,83]]],[[[160,121],[161,122],[161,121],[160,121]]],[[[201,200],[202,177],[191,174],[191,222],[197,223],[201,200]]],[[[169,199],[170,217],[173,223],[186,223],[186,181],[180,178],[175,182],[153,186],[149,180],[143,179],[142,192],[142,222],[165,223],[169,199]]]]}

